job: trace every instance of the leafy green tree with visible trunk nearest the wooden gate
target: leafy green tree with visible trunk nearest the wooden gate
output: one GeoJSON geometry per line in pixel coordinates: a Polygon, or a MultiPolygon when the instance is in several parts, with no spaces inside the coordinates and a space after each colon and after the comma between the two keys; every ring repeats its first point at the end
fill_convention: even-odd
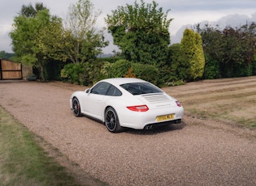
{"type": "Polygon", "coordinates": [[[10,33],[13,50],[18,61],[39,67],[41,80],[46,81],[44,67],[49,58],[63,59],[58,53],[61,50],[62,20],[50,15],[46,8],[37,11],[36,15],[28,15],[20,14],[14,19],[14,29],[10,33]]]}

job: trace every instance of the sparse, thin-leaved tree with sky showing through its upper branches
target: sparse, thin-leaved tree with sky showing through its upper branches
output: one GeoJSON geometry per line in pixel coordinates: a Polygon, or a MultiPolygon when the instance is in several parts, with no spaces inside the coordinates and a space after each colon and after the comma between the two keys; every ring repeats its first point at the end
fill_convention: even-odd
{"type": "Polygon", "coordinates": [[[68,9],[64,33],[64,51],[74,63],[96,59],[102,53],[103,31],[96,32],[95,24],[101,11],[94,11],[89,0],[79,0],[68,9]]]}

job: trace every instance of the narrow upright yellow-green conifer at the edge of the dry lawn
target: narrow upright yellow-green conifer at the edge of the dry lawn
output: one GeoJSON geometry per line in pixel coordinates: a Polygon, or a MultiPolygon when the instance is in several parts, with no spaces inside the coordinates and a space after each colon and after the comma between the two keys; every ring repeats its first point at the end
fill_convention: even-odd
{"type": "Polygon", "coordinates": [[[181,50],[189,59],[189,76],[192,80],[202,78],[205,66],[205,58],[202,49],[202,39],[198,33],[192,29],[184,30],[183,38],[180,42],[181,50]]]}

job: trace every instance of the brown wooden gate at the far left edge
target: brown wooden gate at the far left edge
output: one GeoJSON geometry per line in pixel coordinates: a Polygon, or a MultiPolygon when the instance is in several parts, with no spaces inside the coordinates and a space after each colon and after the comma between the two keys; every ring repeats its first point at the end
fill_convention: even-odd
{"type": "Polygon", "coordinates": [[[22,65],[13,61],[0,59],[0,80],[21,79],[22,65]]]}

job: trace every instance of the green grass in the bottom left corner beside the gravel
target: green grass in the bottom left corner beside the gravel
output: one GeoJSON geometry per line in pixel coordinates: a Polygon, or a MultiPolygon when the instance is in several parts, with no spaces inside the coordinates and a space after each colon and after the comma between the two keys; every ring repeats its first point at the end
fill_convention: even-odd
{"type": "Polygon", "coordinates": [[[78,185],[33,133],[0,106],[0,185],[78,185]]]}

